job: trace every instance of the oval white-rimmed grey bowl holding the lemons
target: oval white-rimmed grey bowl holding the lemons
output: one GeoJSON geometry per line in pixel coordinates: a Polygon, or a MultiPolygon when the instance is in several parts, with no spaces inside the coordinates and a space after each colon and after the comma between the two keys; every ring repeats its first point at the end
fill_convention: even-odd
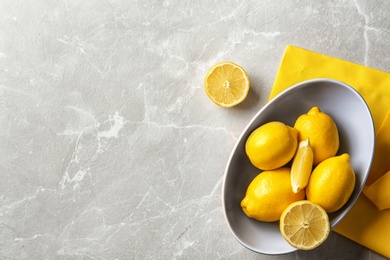
{"type": "Polygon", "coordinates": [[[370,110],[352,87],[335,80],[314,79],[294,85],[265,105],[249,122],[235,145],[225,170],[222,204],[228,226],[245,247],[263,254],[296,251],[282,237],[279,222],[266,223],[248,218],[240,202],[253,178],[261,171],[245,154],[245,142],[257,127],[281,121],[293,126],[299,115],[313,106],[330,115],[339,130],[338,155],[348,153],[356,174],[352,196],[340,210],[329,214],[331,228],[348,213],[367,179],[374,154],[375,131],[370,110]]]}

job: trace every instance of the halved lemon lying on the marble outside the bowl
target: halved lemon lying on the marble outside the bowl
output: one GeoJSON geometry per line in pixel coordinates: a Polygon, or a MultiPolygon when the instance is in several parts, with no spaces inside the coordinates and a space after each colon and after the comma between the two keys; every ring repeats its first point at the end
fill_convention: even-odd
{"type": "Polygon", "coordinates": [[[217,63],[204,79],[207,96],[221,107],[233,107],[244,101],[249,88],[245,70],[233,62],[217,63]]]}

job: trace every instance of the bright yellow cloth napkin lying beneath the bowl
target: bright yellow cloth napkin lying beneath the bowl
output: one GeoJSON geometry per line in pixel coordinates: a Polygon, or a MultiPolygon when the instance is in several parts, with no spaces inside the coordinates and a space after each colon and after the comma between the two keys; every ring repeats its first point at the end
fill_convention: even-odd
{"type": "Polygon", "coordinates": [[[287,46],[270,99],[296,83],[313,78],[345,82],[363,96],[370,108],[377,132],[367,187],[335,231],[390,258],[390,172],[385,174],[390,170],[390,74],[287,46]]]}

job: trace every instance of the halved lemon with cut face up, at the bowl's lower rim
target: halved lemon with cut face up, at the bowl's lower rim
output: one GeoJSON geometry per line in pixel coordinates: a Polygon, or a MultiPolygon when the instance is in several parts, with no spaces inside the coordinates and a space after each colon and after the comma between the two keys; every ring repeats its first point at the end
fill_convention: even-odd
{"type": "Polygon", "coordinates": [[[280,217],[279,227],[284,239],[301,250],[318,247],[330,233],[328,214],[307,200],[290,204],[280,217]]]}

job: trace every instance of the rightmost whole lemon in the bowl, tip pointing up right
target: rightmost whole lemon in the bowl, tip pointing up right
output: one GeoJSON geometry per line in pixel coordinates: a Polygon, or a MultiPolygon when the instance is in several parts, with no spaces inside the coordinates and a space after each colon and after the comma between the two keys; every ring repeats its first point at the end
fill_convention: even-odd
{"type": "Polygon", "coordinates": [[[326,212],[335,212],[348,201],[355,188],[355,179],[347,153],[331,157],[314,168],[306,186],[306,197],[326,212]]]}

